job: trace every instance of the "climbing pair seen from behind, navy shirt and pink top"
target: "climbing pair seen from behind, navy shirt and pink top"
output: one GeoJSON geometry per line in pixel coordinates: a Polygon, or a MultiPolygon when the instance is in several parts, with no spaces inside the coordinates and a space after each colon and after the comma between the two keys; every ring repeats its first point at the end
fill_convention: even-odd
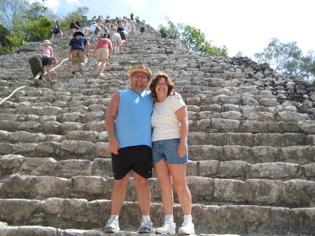
{"type": "MultiPolygon", "coordinates": [[[[106,67],[106,61],[111,59],[113,48],[111,41],[108,39],[109,34],[103,34],[102,39],[97,41],[94,47],[93,57],[97,56],[97,76],[103,76],[106,67]]],[[[89,56],[90,43],[85,39],[82,32],[75,32],[68,48],[69,62],[71,62],[71,71],[73,78],[76,77],[76,64],[79,66],[80,74],[83,75],[83,67],[85,66],[85,57],[89,56]],[[86,50],[85,50],[86,46],[86,50]]]]}

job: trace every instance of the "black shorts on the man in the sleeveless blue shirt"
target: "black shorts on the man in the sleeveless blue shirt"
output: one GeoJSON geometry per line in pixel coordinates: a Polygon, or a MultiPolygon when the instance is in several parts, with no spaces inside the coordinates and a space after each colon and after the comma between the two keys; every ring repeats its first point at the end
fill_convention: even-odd
{"type": "Polygon", "coordinates": [[[152,148],[146,145],[119,148],[118,155],[111,153],[114,179],[123,179],[131,170],[144,177],[152,176],[152,148]]]}

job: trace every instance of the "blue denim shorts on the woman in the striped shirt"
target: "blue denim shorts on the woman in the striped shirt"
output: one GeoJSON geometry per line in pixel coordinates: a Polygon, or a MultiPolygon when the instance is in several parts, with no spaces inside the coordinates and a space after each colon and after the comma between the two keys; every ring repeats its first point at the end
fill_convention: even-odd
{"type": "Polygon", "coordinates": [[[177,153],[180,139],[163,139],[152,142],[152,161],[153,165],[164,158],[169,164],[187,164],[188,153],[182,158],[177,153]]]}

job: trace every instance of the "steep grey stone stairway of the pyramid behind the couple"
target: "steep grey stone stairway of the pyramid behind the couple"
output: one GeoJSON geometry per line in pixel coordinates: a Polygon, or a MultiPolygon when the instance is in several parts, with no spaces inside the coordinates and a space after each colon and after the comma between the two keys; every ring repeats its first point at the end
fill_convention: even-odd
{"type": "MultiPolygon", "coordinates": [[[[247,57],[189,53],[152,28],[137,34],[103,77],[89,57],[83,76],[71,78],[65,61],[52,83],[20,88],[31,81],[27,58],[41,52],[40,42],[0,57],[0,235],[108,235],[113,176],[104,118],[139,64],[169,74],[188,106],[197,235],[315,235],[314,88],[247,57]]],[[[60,62],[68,43],[52,41],[60,62]]],[[[157,179],[150,187],[156,228],[164,221],[157,179]]],[[[125,200],[116,234],[137,235],[133,181],[125,200]]]]}

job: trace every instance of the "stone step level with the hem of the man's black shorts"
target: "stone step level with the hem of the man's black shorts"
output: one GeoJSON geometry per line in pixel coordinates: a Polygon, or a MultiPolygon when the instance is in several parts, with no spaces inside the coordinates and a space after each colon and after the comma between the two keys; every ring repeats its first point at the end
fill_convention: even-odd
{"type": "MultiPolygon", "coordinates": [[[[25,158],[22,155],[3,155],[0,158],[0,179],[11,174],[57,176],[69,179],[73,176],[113,177],[110,158],[90,160],[55,160],[53,158],[25,158]]],[[[244,161],[218,160],[188,161],[187,176],[214,179],[269,179],[288,181],[303,179],[315,181],[315,163],[307,165],[288,162],[249,164],[244,161]]],[[[153,177],[155,172],[153,171],[153,177]]]]}

